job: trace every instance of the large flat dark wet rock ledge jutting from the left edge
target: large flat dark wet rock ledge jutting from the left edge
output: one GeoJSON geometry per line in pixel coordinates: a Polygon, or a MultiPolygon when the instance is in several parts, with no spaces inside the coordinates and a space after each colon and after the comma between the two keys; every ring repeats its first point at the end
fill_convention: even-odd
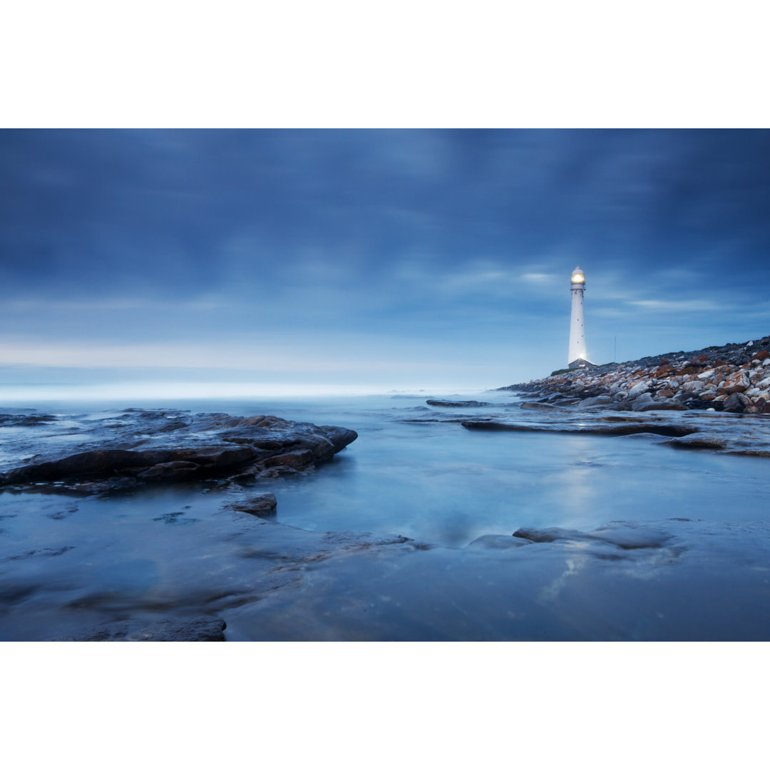
{"type": "MultiPolygon", "coordinates": [[[[10,417],[14,425],[42,420],[49,433],[25,437],[32,452],[28,459],[34,461],[5,470],[0,487],[50,484],[85,494],[126,491],[140,484],[244,482],[309,471],[357,438],[355,431],[343,427],[269,415],[130,409],[100,420],[10,417]],[[62,437],[69,438],[70,450],[79,451],[62,452],[62,437]]],[[[25,448],[19,447],[20,454],[25,448]]]]}

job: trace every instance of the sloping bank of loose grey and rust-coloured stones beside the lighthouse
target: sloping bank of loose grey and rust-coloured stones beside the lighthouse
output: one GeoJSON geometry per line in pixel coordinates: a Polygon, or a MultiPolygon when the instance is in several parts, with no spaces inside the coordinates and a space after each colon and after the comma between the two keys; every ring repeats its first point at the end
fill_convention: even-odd
{"type": "Polygon", "coordinates": [[[501,387],[537,393],[545,403],[613,410],[770,413],[770,336],[703,350],[558,371],[501,387]]]}

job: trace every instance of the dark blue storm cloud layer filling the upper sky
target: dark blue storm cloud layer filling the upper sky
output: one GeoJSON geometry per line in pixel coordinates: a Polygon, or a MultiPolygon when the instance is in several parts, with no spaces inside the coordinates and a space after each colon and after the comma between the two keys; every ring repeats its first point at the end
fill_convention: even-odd
{"type": "Polygon", "coordinates": [[[25,293],[172,296],[280,278],[308,251],[373,278],[408,253],[449,268],[557,246],[764,270],[768,171],[760,131],[5,131],[2,270],[25,293]]]}

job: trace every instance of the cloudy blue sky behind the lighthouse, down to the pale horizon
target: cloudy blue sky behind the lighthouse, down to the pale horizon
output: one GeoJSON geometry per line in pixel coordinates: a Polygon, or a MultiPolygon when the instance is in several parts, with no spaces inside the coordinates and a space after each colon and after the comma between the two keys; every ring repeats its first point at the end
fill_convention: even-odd
{"type": "Polygon", "coordinates": [[[2,130],[0,385],[500,387],[770,333],[765,130],[2,130]],[[616,352],[617,351],[617,352],[616,352]]]}

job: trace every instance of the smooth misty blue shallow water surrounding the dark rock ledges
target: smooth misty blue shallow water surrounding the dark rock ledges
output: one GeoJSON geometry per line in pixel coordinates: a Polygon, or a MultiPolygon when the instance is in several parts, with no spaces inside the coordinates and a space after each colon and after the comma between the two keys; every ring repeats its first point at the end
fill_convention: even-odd
{"type": "MultiPolygon", "coordinates": [[[[588,531],[614,520],[770,520],[767,458],[675,450],[664,437],[650,434],[487,433],[466,430],[459,422],[410,421],[489,415],[533,424],[563,419],[561,412],[521,410],[510,393],[476,398],[495,406],[432,408],[425,394],[98,407],[39,403],[40,413],[80,417],[0,427],[0,463],[4,469],[21,464],[18,460],[28,457],[44,436],[66,450],[77,435],[72,430],[82,426],[85,416],[118,414],[129,406],[268,413],[341,425],[359,434],[313,474],[256,485],[276,494],[276,521],[306,531],[400,534],[457,549],[481,535],[510,535],[518,527],[588,531]]],[[[13,407],[21,405],[0,411],[13,407]]],[[[675,413],[661,419],[719,420],[723,425],[730,417],[675,413]]],[[[746,424],[735,422],[735,430],[745,431],[746,424]]],[[[248,595],[244,549],[256,547],[256,520],[223,510],[233,494],[202,484],[149,487],[107,499],[3,492],[0,638],[49,638],[84,624],[166,609],[195,612],[216,607],[218,597],[239,591],[248,595]]],[[[420,558],[427,560],[420,564],[444,563],[440,555],[420,558]]],[[[476,564],[484,557],[465,559],[476,564]]],[[[424,580],[425,572],[420,575],[424,580]]],[[[249,638],[247,631],[240,633],[249,638]]],[[[452,632],[432,638],[452,638],[452,632]]]]}

